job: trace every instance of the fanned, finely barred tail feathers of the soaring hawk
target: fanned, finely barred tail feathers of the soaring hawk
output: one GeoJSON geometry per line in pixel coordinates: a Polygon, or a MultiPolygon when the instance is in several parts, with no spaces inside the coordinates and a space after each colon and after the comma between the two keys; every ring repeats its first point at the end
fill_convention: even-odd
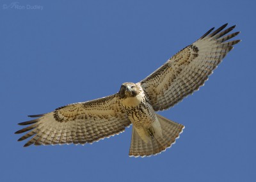
{"type": "Polygon", "coordinates": [[[175,139],[179,138],[179,134],[182,133],[184,126],[179,123],[175,123],[170,119],[166,119],[159,114],[156,115],[162,128],[162,137],[154,136],[154,138],[150,138],[150,141],[146,143],[141,139],[133,126],[129,156],[143,157],[157,155],[158,153],[161,153],[161,151],[165,151],[167,148],[170,148],[172,144],[175,143],[175,139]]]}

